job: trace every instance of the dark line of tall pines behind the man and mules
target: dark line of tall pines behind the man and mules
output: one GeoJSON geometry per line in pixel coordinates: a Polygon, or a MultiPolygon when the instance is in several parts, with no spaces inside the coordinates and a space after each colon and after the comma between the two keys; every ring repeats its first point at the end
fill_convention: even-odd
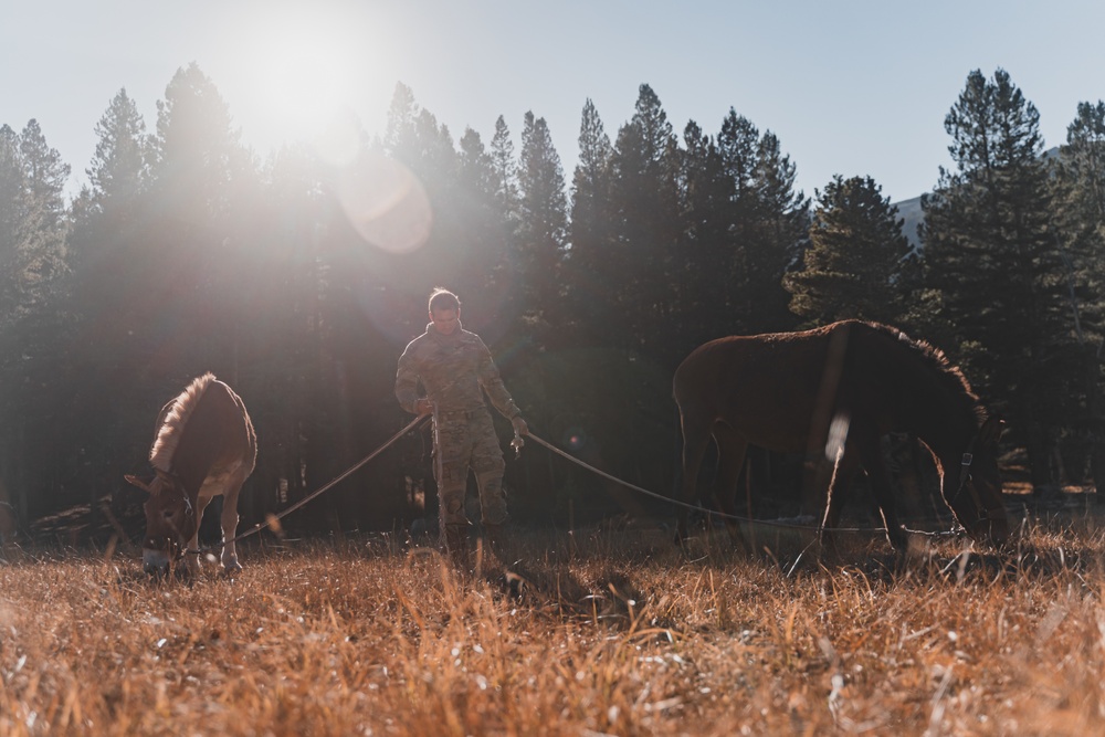
{"type": "MultiPolygon", "coordinates": [[[[110,101],[72,201],[38,124],[0,128],[0,481],[24,524],[118,498],[161,404],[207,370],[257,429],[245,519],[302,498],[410,420],[396,360],[435,285],[461,295],[535,433],[659,492],[691,349],[843,317],[940,346],[1009,421],[1038,487],[1103,478],[1105,104],[1080,105],[1045,158],[1008,74],[972,72],[918,250],[870,177],[794,191],[779,139],[735,109],[676,131],[642,85],[611,135],[588,101],[570,180],[545,120],[520,123],[517,150],[503,117],[487,143],[454,140],[399,85],[387,130],[361,134],[351,160],[262,161],[191,65],[151,129],[125,90],[110,101]],[[406,196],[380,194],[396,182],[406,196]],[[406,217],[369,212],[376,200],[406,217]]],[[[288,524],[409,518],[428,449],[404,438],[288,524]]],[[[507,482],[522,518],[657,508],[533,443],[507,482]]]]}

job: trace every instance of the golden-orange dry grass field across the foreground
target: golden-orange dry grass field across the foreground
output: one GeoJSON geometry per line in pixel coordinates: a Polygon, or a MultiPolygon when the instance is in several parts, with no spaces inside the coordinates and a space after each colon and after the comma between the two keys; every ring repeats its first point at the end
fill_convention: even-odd
{"type": "Polygon", "coordinates": [[[882,539],[798,566],[659,530],[523,541],[520,597],[387,537],[246,546],[190,582],[126,546],[9,550],[0,734],[1105,731],[1087,515],[898,569],[882,539]]]}

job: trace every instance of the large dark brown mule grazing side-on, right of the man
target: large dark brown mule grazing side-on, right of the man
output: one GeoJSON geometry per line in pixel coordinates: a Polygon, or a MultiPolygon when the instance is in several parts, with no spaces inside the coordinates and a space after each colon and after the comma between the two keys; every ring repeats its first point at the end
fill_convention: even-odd
{"type": "MultiPolygon", "coordinates": [[[[684,502],[695,498],[711,436],[718,450],[715,493],[727,515],[736,514],[737,478],[749,444],[824,453],[833,472],[822,544],[831,545],[849,482],[862,467],[887,538],[905,550],[880,440],[909,432],[932,452],[944,501],[968,534],[998,544],[1009,536],[996,460],[1003,423],[987,417],[943,352],[895,328],[844,320],[800,333],[712,340],[676,369],[674,393],[683,425],[684,502]]],[[[745,544],[735,524],[729,529],[745,544]]],[[[686,513],[678,530],[682,538],[686,513]]]]}

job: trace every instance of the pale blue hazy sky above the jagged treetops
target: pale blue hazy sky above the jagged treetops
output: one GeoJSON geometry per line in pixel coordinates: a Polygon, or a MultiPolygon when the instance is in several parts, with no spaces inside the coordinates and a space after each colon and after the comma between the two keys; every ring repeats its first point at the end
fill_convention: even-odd
{"type": "Polygon", "coordinates": [[[967,75],[1004,69],[1040,112],[1046,147],[1080,102],[1105,98],[1101,0],[0,0],[0,124],[32,118],[87,181],[95,126],[120,88],[147,129],[194,62],[243,143],[264,157],[320,141],[351,112],[382,134],[397,83],[490,145],[499,115],[520,149],[545,118],[571,181],[587,99],[611,140],[639,87],[682,137],[733,108],[771,130],[808,196],[870,176],[897,202],[951,167],[944,118],[967,75]]]}

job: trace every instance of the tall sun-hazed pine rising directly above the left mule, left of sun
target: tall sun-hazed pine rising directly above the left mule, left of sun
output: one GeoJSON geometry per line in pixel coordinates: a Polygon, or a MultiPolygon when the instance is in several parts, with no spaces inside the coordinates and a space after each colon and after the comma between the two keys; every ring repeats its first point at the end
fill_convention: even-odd
{"type": "Polygon", "coordinates": [[[130,349],[151,358],[134,367],[151,392],[158,381],[175,386],[203,370],[233,383],[256,165],[218,87],[194,63],[179,69],[157,101],[149,144],[149,189],[126,254],[133,276],[120,322],[133,324],[130,349]],[[167,333],[165,325],[176,327],[167,333]]]}

